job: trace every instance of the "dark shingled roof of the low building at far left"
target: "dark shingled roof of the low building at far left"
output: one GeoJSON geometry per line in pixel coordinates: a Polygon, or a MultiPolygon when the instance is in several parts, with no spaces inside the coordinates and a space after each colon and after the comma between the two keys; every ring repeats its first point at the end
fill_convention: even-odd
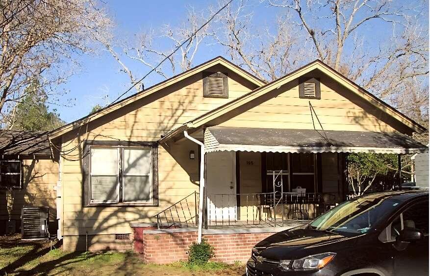
{"type": "Polygon", "coordinates": [[[0,130],[1,158],[33,158],[35,156],[51,157],[51,148],[47,132],[0,130]]]}

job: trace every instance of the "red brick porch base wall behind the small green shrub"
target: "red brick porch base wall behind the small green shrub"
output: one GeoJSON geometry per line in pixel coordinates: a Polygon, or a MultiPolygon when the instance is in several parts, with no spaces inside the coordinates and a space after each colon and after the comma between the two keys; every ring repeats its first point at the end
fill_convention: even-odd
{"type": "MultiPolygon", "coordinates": [[[[187,260],[188,247],[197,241],[197,232],[145,233],[136,229],[134,248],[142,254],[145,263],[166,264],[187,260]]],[[[245,262],[251,256],[255,244],[274,233],[234,233],[203,235],[215,248],[213,261],[234,263],[245,262]]]]}

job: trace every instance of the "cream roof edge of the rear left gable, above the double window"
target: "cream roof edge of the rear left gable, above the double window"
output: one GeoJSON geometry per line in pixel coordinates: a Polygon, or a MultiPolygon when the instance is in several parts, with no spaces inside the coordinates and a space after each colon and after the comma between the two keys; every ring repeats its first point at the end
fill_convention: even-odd
{"type": "Polygon", "coordinates": [[[202,72],[208,68],[211,68],[215,65],[222,65],[222,66],[226,67],[228,70],[233,71],[234,73],[236,73],[240,77],[242,77],[245,80],[255,84],[258,87],[265,84],[265,82],[263,82],[262,80],[256,78],[252,74],[248,73],[247,71],[243,70],[242,68],[238,67],[237,65],[231,63],[230,61],[228,61],[224,57],[218,56],[218,57],[215,57],[209,61],[206,61],[206,62],[204,62],[204,63],[202,63],[202,64],[200,64],[194,68],[191,68],[191,69],[189,69],[189,70],[187,70],[181,74],[178,74],[178,75],[176,75],[170,79],[167,79],[161,83],[157,83],[157,84],[155,84],[155,85],[153,85],[153,86],[151,86],[145,90],[142,90],[136,94],[133,94],[133,95],[117,102],[117,103],[111,104],[111,105],[109,105],[109,106],[107,106],[101,110],[98,110],[98,111],[91,113],[91,114],[89,114],[83,118],[80,118],[80,119],[78,119],[72,123],[69,123],[67,125],[64,125],[58,129],[56,129],[56,130],[53,130],[49,133],[49,137],[51,139],[57,138],[57,137],[65,134],[65,133],[67,133],[71,130],[74,130],[74,129],[76,129],[76,128],[84,125],[84,124],[87,124],[87,123],[89,123],[89,122],[91,122],[91,121],[93,121],[93,120],[95,120],[95,119],[97,119],[103,115],[106,115],[110,112],[118,110],[118,109],[120,109],[120,108],[122,108],[122,107],[136,101],[136,100],[147,97],[147,96],[159,91],[162,88],[165,88],[165,87],[170,86],[174,83],[182,81],[182,80],[184,80],[184,79],[186,79],[186,78],[188,78],[194,74],[200,73],[200,72],[202,72]]]}

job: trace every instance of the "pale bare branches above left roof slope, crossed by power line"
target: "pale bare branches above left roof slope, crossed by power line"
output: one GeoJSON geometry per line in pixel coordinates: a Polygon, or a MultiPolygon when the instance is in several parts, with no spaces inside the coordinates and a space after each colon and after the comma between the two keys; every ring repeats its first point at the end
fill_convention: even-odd
{"type": "MultiPolygon", "coordinates": [[[[135,84],[138,80],[130,69],[133,61],[144,65],[148,69],[154,69],[157,74],[167,79],[171,75],[186,71],[193,66],[193,60],[208,36],[209,26],[200,28],[206,19],[205,11],[196,12],[194,8],[188,10],[186,19],[177,27],[165,25],[159,32],[153,29],[134,35],[133,39],[102,39],[102,43],[107,51],[117,60],[121,66],[121,71],[125,72],[130,79],[130,83],[135,84]],[[180,46],[184,41],[191,38],[187,43],[180,46]],[[131,41],[131,42],[129,42],[131,41]],[[162,49],[160,42],[166,42],[170,47],[162,49]],[[180,47],[179,47],[180,46],[180,47]],[[177,52],[166,60],[164,64],[155,67],[162,59],[170,55],[175,49],[177,52]],[[118,49],[118,50],[117,50],[118,49]]],[[[137,91],[142,90],[142,86],[135,86],[137,91]]]]}

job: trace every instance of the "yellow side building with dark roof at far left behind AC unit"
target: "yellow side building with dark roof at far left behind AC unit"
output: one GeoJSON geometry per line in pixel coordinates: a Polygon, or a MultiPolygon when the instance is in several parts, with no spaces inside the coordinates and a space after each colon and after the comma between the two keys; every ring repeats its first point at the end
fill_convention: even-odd
{"type": "Polygon", "coordinates": [[[25,205],[49,207],[55,232],[58,161],[47,133],[0,131],[0,158],[0,234],[20,230],[25,205]]]}

